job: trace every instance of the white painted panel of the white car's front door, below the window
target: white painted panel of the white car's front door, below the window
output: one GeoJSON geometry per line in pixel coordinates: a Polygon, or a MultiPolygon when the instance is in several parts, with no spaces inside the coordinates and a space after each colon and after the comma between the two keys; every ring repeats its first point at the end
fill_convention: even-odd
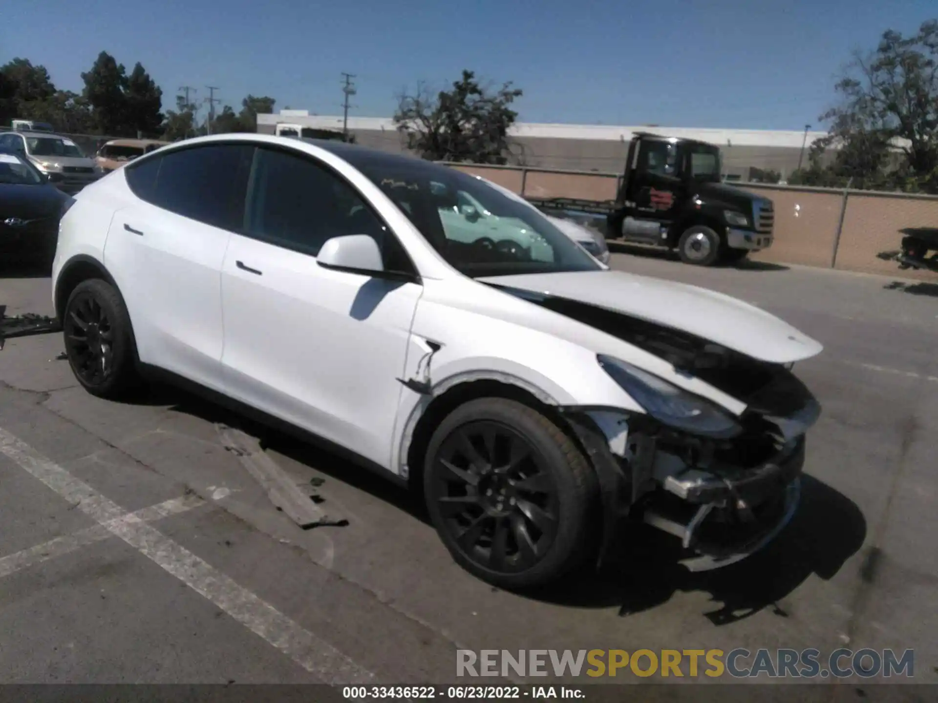
{"type": "Polygon", "coordinates": [[[221,275],[227,392],[389,466],[421,292],[233,234],[221,275]]]}

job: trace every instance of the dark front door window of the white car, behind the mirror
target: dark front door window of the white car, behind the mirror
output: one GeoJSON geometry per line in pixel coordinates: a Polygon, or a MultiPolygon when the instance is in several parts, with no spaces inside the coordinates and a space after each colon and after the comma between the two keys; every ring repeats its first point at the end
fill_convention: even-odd
{"type": "Polygon", "coordinates": [[[332,237],[368,234],[387,269],[412,270],[397,238],[356,190],[310,158],[259,149],[252,184],[251,236],[315,256],[332,237]]]}

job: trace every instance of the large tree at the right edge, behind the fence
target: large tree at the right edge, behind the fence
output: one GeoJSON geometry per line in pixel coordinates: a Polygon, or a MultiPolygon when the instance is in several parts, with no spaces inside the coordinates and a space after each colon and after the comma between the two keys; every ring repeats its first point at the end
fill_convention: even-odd
{"type": "Polygon", "coordinates": [[[821,116],[831,126],[823,146],[839,147],[829,174],[938,193],[938,20],[911,37],[886,31],[835,89],[838,104],[821,116]]]}

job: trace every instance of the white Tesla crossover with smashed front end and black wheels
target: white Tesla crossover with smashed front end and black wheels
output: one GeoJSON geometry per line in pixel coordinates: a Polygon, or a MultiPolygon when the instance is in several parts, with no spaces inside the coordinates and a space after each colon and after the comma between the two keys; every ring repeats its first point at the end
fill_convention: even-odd
{"type": "Polygon", "coordinates": [[[785,322],[342,142],[219,135],[105,176],[62,221],[53,299],[89,392],[188,381],[348,450],[506,588],[595,562],[620,519],[691,569],[745,557],[792,516],[820,411],[791,366],[821,345],[785,322]],[[492,214],[477,238],[441,217],[461,200],[492,214]]]}

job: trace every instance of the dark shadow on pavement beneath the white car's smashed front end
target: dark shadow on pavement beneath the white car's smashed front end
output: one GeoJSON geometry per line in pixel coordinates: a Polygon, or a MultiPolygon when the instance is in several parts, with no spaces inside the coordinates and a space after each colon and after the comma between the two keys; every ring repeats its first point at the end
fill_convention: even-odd
{"type": "Polygon", "coordinates": [[[690,573],[676,562],[673,538],[642,526],[630,528],[627,547],[599,574],[578,574],[530,597],[577,607],[618,606],[627,616],[661,606],[678,591],[704,591],[718,604],[702,615],[715,625],[740,621],[781,602],[809,576],[835,576],[863,545],[867,524],[859,507],[831,486],[802,478],[802,500],[792,522],[748,559],[710,572],[690,573]]]}

